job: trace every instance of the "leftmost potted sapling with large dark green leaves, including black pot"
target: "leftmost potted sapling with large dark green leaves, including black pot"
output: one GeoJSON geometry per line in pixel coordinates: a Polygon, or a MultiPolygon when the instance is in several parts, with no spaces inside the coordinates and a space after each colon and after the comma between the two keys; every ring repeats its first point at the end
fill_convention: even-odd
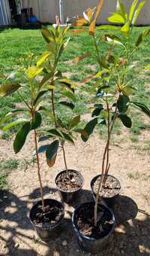
{"type": "MultiPolygon", "coordinates": [[[[40,238],[48,240],[54,233],[59,232],[59,226],[64,218],[65,211],[62,203],[52,199],[44,200],[43,197],[43,185],[40,177],[40,157],[37,145],[37,133],[42,122],[40,103],[43,94],[46,93],[46,90],[43,89],[44,86],[41,86],[37,80],[37,75],[40,75],[40,73],[43,72],[43,68],[39,66],[39,63],[42,61],[43,55],[40,56],[37,66],[28,67],[26,70],[24,76],[26,86],[15,82],[15,80],[7,80],[5,84],[1,84],[0,96],[10,96],[11,93],[17,91],[24,104],[23,108],[14,109],[6,114],[1,120],[1,126],[3,130],[8,130],[13,126],[20,126],[13,142],[13,150],[16,154],[23,148],[29,133],[32,133],[37,160],[37,175],[40,184],[41,200],[35,203],[31,208],[29,218],[40,238]],[[28,99],[25,98],[23,90],[28,92],[28,99]],[[10,122],[6,124],[8,121],[10,122]]],[[[49,150],[46,154],[49,160],[51,160],[52,152],[49,150]]]]}

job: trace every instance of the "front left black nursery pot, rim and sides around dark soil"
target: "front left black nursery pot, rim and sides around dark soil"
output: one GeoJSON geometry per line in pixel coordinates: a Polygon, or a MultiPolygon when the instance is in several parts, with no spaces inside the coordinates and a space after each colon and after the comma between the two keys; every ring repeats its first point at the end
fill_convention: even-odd
{"type": "Polygon", "coordinates": [[[53,224],[37,224],[34,222],[34,219],[35,216],[40,212],[39,207],[41,209],[41,206],[41,200],[35,203],[34,206],[32,206],[29,212],[29,219],[34,229],[37,231],[37,235],[40,237],[40,239],[46,242],[49,241],[49,239],[53,239],[54,236],[58,236],[61,233],[61,224],[65,215],[65,211],[62,203],[58,202],[57,200],[45,199],[44,206],[56,207],[58,211],[60,211],[60,218],[58,219],[58,221],[53,221],[53,224]]]}

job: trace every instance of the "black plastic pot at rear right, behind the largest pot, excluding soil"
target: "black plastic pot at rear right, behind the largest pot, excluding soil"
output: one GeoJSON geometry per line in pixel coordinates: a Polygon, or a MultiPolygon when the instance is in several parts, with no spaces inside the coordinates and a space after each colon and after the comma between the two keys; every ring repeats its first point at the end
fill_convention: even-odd
{"type": "MultiPolygon", "coordinates": [[[[113,175],[108,175],[108,176],[115,178],[113,175]]],[[[96,194],[95,194],[95,192],[94,192],[94,190],[93,190],[93,186],[94,186],[94,184],[95,184],[95,181],[96,181],[99,177],[101,177],[101,175],[95,176],[94,178],[92,178],[92,181],[91,181],[91,183],[90,183],[91,189],[92,189],[92,195],[93,195],[94,200],[96,199],[96,194]]],[[[115,180],[118,181],[117,178],[115,178],[115,180]]],[[[120,187],[120,189],[121,189],[120,181],[118,181],[118,184],[119,184],[119,187],[120,187]]],[[[118,192],[118,194],[115,194],[114,197],[101,197],[101,198],[104,200],[104,202],[107,204],[107,206],[113,207],[114,204],[115,204],[115,200],[118,199],[118,196],[119,196],[119,192],[118,192]]]]}

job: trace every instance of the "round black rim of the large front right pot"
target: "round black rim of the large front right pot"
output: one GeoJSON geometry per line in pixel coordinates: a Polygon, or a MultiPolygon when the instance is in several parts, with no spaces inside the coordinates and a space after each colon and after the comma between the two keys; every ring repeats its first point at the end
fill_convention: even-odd
{"type": "Polygon", "coordinates": [[[116,222],[115,222],[115,215],[113,214],[113,211],[112,211],[108,206],[104,206],[104,205],[102,205],[102,204],[99,204],[99,205],[98,205],[99,207],[102,206],[102,208],[103,208],[103,207],[106,208],[108,211],[110,211],[110,213],[111,213],[111,215],[112,215],[113,227],[112,227],[112,229],[110,230],[110,233],[107,234],[107,236],[104,236],[103,238],[99,238],[99,239],[96,239],[96,238],[94,238],[94,237],[85,236],[85,235],[83,235],[83,233],[82,233],[80,230],[77,229],[76,225],[74,224],[74,218],[75,218],[75,215],[76,215],[78,209],[80,209],[81,206],[86,205],[86,204],[89,204],[89,203],[95,204],[94,202],[82,203],[82,204],[80,204],[80,206],[77,206],[77,208],[74,210],[73,215],[72,215],[72,224],[73,224],[74,230],[76,231],[76,233],[79,233],[80,236],[83,237],[83,239],[87,239],[87,240],[89,240],[89,241],[95,241],[95,240],[99,240],[99,239],[107,239],[107,237],[109,237],[109,236],[113,233],[113,230],[115,229],[115,224],[116,224],[116,222]]]}

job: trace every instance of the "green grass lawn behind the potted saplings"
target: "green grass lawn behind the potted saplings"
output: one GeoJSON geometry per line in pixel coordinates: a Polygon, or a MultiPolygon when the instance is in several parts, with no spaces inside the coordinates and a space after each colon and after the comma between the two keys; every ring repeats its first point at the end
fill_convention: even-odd
{"type": "MultiPolygon", "coordinates": [[[[145,27],[138,27],[133,29],[132,41],[136,41],[137,36],[145,29],[145,27]]],[[[148,27],[146,27],[148,29],[148,27]]],[[[111,33],[111,31],[109,31],[111,33]]],[[[34,56],[39,56],[43,52],[46,42],[40,34],[40,29],[26,30],[26,29],[4,29],[0,30],[1,33],[1,45],[0,48],[0,73],[9,73],[20,68],[20,66],[26,66],[26,59],[28,54],[33,53],[34,56]]],[[[117,34],[117,33],[116,33],[117,34]]],[[[97,35],[102,35],[102,32],[97,32],[97,35]]],[[[146,103],[150,106],[150,87],[148,87],[150,72],[144,73],[143,69],[146,65],[150,63],[150,37],[148,37],[144,44],[139,48],[139,50],[134,54],[133,60],[136,60],[136,65],[130,69],[128,73],[128,79],[130,80],[130,85],[138,88],[136,95],[133,96],[134,100],[146,103]]],[[[100,44],[100,54],[104,55],[107,51],[107,45],[105,43],[100,44]]],[[[116,53],[121,54],[122,48],[117,47],[116,53]]],[[[80,33],[79,35],[74,35],[71,38],[68,48],[66,48],[65,53],[62,56],[61,62],[59,64],[59,69],[62,72],[71,72],[71,79],[78,83],[84,78],[87,78],[90,74],[95,73],[92,71],[90,66],[95,65],[95,48],[93,46],[93,39],[88,33],[80,33]],[[74,59],[83,53],[89,52],[91,56],[87,59],[83,59],[77,64],[71,65],[65,61],[74,59]],[[88,66],[88,67],[87,67],[88,66]]],[[[98,69],[97,69],[98,71],[98,69]]],[[[78,101],[77,106],[74,109],[74,114],[80,112],[80,114],[87,113],[89,111],[88,103],[91,102],[92,96],[92,82],[86,84],[86,90],[89,92],[89,97],[80,95],[83,92],[83,86],[80,86],[79,92],[77,93],[78,101]],[[80,96],[79,96],[80,95],[80,96]]],[[[25,93],[26,99],[28,99],[28,93],[25,93]]],[[[17,93],[13,93],[13,96],[0,99],[0,118],[4,116],[8,111],[16,108],[15,103],[22,102],[17,93]]],[[[58,116],[62,117],[64,120],[68,120],[69,111],[63,106],[57,107],[58,116]]],[[[131,133],[138,135],[143,129],[143,124],[140,115],[136,114],[136,111],[132,111],[130,115],[133,117],[133,126],[130,130],[131,133]]],[[[100,132],[104,133],[104,127],[100,127],[100,132]]],[[[121,123],[118,122],[115,125],[115,133],[121,133],[121,123]]],[[[14,130],[11,130],[13,133],[14,130]]],[[[4,133],[2,135],[3,139],[9,139],[10,133],[4,133]]],[[[134,139],[133,139],[134,141],[134,139]]]]}

